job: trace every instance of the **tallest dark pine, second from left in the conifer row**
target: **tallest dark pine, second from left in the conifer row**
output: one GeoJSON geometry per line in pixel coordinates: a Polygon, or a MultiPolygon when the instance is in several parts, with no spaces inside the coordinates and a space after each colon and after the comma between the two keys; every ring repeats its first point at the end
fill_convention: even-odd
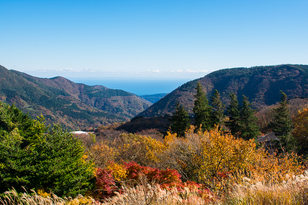
{"type": "Polygon", "coordinates": [[[197,94],[194,95],[196,98],[194,103],[193,112],[195,113],[195,123],[194,125],[199,128],[202,124],[202,129],[211,129],[213,128],[213,117],[212,117],[212,107],[209,105],[209,101],[206,98],[205,93],[202,90],[203,86],[198,82],[197,83],[197,94]]]}

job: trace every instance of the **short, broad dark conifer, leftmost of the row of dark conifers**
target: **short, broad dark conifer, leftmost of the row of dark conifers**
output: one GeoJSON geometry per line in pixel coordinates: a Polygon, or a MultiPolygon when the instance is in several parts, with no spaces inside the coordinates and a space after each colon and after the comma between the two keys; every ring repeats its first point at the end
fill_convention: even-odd
{"type": "Polygon", "coordinates": [[[180,105],[179,101],[177,101],[175,109],[176,111],[172,113],[171,131],[177,133],[177,136],[184,137],[185,130],[190,126],[188,112],[183,105],[180,105]]]}

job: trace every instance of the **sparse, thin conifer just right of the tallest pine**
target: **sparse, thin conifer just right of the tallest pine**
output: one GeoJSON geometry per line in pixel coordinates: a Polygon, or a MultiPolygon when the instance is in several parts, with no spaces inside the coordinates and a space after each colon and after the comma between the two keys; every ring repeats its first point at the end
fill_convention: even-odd
{"type": "Polygon", "coordinates": [[[211,98],[211,105],[212,105],[212,115],[213,115],[213,120],[214,120],[214,124],[224,124],[224,119],[225,119],[225,116],[224,116],[224,109],[225,109],[225,104],[223,104],[221,102],[221,99],[220,99],[220,93],[215,89],[215,93],[213,93],[213,97],[210,97],[211,98]]]}

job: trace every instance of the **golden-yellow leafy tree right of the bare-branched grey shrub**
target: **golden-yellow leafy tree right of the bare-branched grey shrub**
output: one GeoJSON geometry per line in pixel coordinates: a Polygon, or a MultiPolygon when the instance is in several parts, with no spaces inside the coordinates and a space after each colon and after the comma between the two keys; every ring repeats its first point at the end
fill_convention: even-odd
{"type": "Polygon", "coordinates": [[[255,154],[253,140],[235,138],[216,126],[203,134],[204,152],[202,153],[201,173],[205,178],[217,176],[217,172],[236,172],[246,169],[255,154]]]}

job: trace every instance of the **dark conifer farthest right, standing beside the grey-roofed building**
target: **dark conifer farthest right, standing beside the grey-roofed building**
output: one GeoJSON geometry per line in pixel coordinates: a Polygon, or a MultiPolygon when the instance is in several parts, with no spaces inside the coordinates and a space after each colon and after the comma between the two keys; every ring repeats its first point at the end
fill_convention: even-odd
{"type": "Polygon", "coordinates": [[[288,109],[289,102],[287,101],[287,95],[280,91],[282,100],[279,102],[279,107],[274,108],[276,121],[271,122],[270,126],[273,128],[273,132],[279,138],[280,151],[288,152],[294,151],[296,147],[296,140],[291,135],[292,132],[292,121],[290,118],[290,111],[288,109]]]}

